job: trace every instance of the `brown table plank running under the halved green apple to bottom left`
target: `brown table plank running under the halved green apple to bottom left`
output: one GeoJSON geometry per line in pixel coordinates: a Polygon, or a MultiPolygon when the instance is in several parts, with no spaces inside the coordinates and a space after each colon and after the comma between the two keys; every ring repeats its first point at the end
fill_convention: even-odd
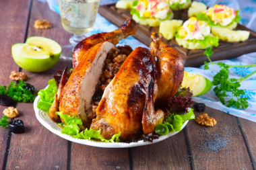
{"type": "MultiPolygon", "coordinates": [[[[12,1],[12,3],[15,2],[12,1]]],[[[50,11],[47,3],[33,1],[28,28],[29,36],[48,37],[63,46],[69,43],[71,34],[63,30],[59,15],[50,11]],[[49,20],[53,28],[35,30],[33,25],[36,19],[49,20]]],[[[11,45],[7,47],[7,49],[10,48],[11,45]]],[[[29,77],[27,82],[34,85],[37,93],[39,89],[46,87],[48,80],[52,78],[57,69],[63,69],[66,65],[71,66],[71,61],[61,59],[55,67],[44,73],[24,72],[29,77]]],[[[17,108],[21,112],[19,119],[24,121],[26,132],[12,134],[6,169],[67,169],[67,140],[51,133],[38,122],[34,114],[33,103],[18,103],[17,108]]]]}

